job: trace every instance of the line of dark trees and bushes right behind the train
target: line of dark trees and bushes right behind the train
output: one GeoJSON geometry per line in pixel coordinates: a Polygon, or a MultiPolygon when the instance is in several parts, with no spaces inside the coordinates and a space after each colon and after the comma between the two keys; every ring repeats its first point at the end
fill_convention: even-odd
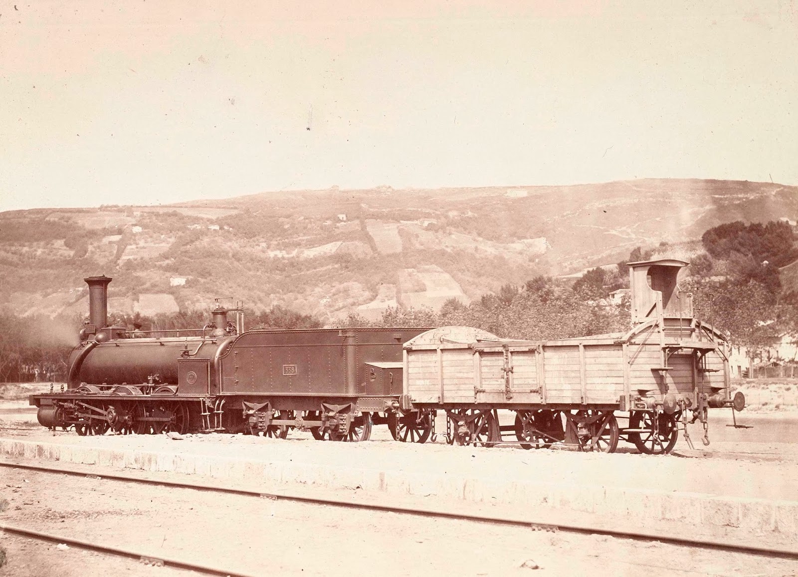
{"type": "MultiPolygon", "coordinates": [[[[779,267],[798,259],[796,235],[788,223],[726,223],[705,232],[704,249],[692,258],[683,290],[694,294],[696,316],[745,346],[753,361],[784,334],[798,334],[798,293],[783,287],[779,267]]],[[[659,247],[662,251],[662,246],[659,247]]],[[[553,340],[630,329],[626,263],[650,259],[654,248],[637,247],[613,269],[595,268],[574,283],[536,276],[522,285],[505,284],[468,305],[455,299],[440,310],[385,310],[377,321],[350,314],[342,326],[475,326],[507,338],[553,340]]],[[[0,314],[0,381],[63,381],[69,350],[77,345],[83,315],[49,318],[0,314]]],[[[116,314],[109,321],[145,331],[201,328],[207,311],[144,317],[116,314]]],[[[312,315],[282,306],[247,316],[247,328],[310,329],[323,326],[312,315]]],[[[157,333],[156,333],[157,334],[157,333]]]]}

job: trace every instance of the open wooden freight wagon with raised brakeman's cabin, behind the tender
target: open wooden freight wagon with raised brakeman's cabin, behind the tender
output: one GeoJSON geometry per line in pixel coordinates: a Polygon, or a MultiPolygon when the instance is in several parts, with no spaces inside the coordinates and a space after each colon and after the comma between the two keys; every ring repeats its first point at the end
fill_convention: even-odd
{"type": "Polygon", "coordinates": [[[534,342],[449,326],[412,338],[401,409],[443,409],[447,440],[460,445],[506,442],[512,432],[525,448],[565,442],[612,452],[624,440],[669,453],[680,429],[689,442],[695,421],[709,444],[708,409],[741,410],[745,397],[729,397],[729,342],[693,316],[692,294],[678,287],[687,264],[629,264],[626,334],[534,342]],[[500,425],[498,409],[515,411],[514,425],[500,425]]]}

